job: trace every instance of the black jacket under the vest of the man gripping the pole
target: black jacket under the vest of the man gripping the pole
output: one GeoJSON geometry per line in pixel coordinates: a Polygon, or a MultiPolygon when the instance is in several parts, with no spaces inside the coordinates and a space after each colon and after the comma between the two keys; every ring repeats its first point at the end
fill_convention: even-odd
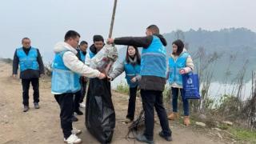
{"type": "MultiPolygon", "coordinates": [[[[158,38],[160,38],[162,45],[167,46],[166,39],[163,38],[161,34],[154,34],[158,38]]],[[[147,49],[153,40],[153,36],[146,37],[122,37],[122,38],[114,38],[114,44],[117,45],[127,45],[127,46],[138,46],[147,49]]],[[[140,82],[140,88],[142,90],[165,90],[166,78],[161,78],[157,76],[142,76],[142,80],[140,82]],[[156,85],[157,83],[157,85],[156,85]]]]}

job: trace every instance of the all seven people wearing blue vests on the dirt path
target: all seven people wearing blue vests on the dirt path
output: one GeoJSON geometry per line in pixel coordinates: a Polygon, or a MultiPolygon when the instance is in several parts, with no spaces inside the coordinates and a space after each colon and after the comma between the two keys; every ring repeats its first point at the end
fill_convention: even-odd
{"type": "MultiPolygon", "coordinates": [[[[182,74],[194,70],[190,54],[186,51],[181,40],[172,42],[172,54],[166,54],[166,39],[160,34],[158,26],[150,25],[146,28],[144,37],[108,38],[107,45],[125,45],[126,58],[118,62],[110,73],[100,72],[90,68],[91,59],[105,46],[101,35],[94,35],[94,44],[87,50],[88,43],[80,42],[80,34],[74,30],[66,32],[64,42],[54,46],[54,60],[52,62],[51,93],[60,107],[60,123],[64,142],[81,143],[78,134],[82,130],[73,128],[72,122],[78,121],[74,114],[82,115],[80,108],[87,104],[83,102],[86,93],[94,94],[93,82],[100,81],[102,85],[113,81],[125,72],[130,90],[126,123],[134,121],[137,91],[140,90],[142,108],[145,112],[145,130],[137,135],[139,142],[154,143],[154,110],[158,114],[162,130],[158,133],[166,141],[172,141],[172,131],[169,120],[178,118],[178,95],[182,96],[184,110],[184,125],[190,125],[190,106],[182,90],[182,74]],[[142,47],[142,53],[138,48],[142,47]],[[105,83],[104,83],[105,82],[105,83]],[[172,112],[166,114],[162,92],[166,82],[171,87],[172,112]],[[86,92],[86,85],[89,89],[86,92]]],[[[42,57],[37,48],[30,45],[30,38],[22,38],[22,47],[15,50],[13,62],[13,76],[17,77],[18,66],[22,79],[22,98],[24,112],[30,109],[30,82],[34,90],[34,108],[39,109],[39,81],[44,75],[42,57]]],[[[108,88],[110,89],[110,88],[108,88]]],[[[108,90],[111,92],[111,90],[108,90]]]]}

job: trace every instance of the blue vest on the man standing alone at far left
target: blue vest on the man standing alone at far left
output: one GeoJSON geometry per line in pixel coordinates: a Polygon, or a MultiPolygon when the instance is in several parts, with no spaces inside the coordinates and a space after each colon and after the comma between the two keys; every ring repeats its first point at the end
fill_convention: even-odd
{"type": "Polygon", "coordinates": [[[39,70],[38,66],[38,50],[34,47],[30,48],[29,53],[26,55],[25,51],[21,48],[17,49],[17,56],[19,61],[20,70],[39,70]]]}

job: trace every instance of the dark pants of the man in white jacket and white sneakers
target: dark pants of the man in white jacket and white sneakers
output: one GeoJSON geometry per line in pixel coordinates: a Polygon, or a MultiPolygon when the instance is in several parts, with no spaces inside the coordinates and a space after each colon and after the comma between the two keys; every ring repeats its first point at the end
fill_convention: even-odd
{"type": "Polygon", "coordinates": [[[73,117],[73,105],[74,105],[74,94],[64,93],[54,95],[58,105],[61,109],[61,126],[64,138],[69,138],[71,135],[72,127],[72,117],[73,117]]]}

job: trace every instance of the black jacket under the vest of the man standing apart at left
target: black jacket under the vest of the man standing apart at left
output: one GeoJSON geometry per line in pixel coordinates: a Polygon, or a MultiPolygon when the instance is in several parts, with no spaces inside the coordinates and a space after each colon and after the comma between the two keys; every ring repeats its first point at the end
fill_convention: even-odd
{"type": "MultiPolygon", "coordinates": [[[[29,51],[30,51],[31,48],[26,49],[26,48],[22,47],[22,49],[24,50],[24,52],[26,54],[29,54],[29,51]]],[[[44,69],[44,66],[43,66],[41,54],[40,54],[38,49],[37,49],[37,51],[38,51],[37,60],[38,60],[39,70],[31,70],[31,69],[24,70],[24,71],[21,72],[20,78],[22,78],[22,79],[40,78],[40,74],[45,74],[45,69],[44,69]]],[[[14,62],[13,62],[13,74],[18,74],[18,62],[19,62],[19,59],[18,59],[18,56],[17,56],[17,50],[15,50],[14,62]]]]}

